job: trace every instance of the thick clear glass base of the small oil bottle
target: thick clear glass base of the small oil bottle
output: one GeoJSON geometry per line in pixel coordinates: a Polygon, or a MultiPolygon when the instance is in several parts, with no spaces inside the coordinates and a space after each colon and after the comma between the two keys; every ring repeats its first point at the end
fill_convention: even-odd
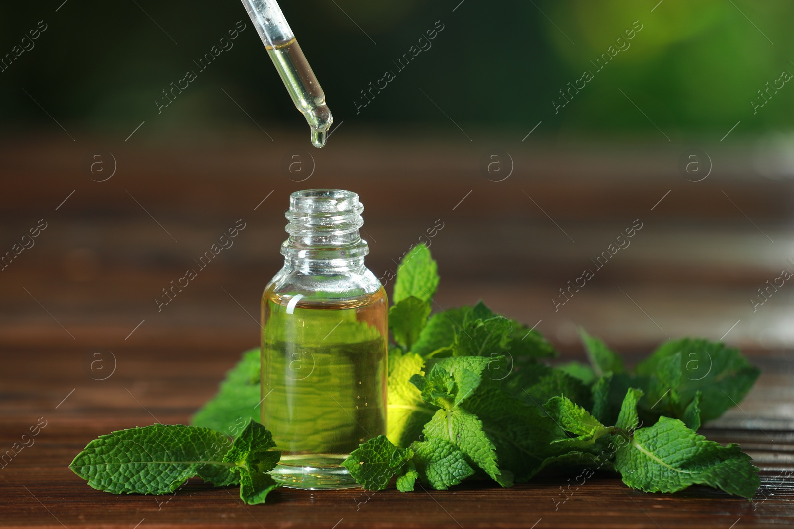
{"type": "Polygon", "coordinates": [[[287,455],[270,475],[289,489],[360,489],[361,485],[341,466],[346,457],[346,454],[287,455]]]}

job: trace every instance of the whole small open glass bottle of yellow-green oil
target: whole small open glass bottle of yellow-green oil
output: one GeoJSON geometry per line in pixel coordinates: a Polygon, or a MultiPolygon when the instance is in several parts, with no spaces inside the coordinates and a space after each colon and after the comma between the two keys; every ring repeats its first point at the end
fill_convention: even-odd
{"type": "Polygon", "coordinates": [[[341,462],[386,433],[387,299],[364,266],[358,195],[290,196],[284,266],[262,295],[261,419],[296,489],[356,487],[341,462]]]}

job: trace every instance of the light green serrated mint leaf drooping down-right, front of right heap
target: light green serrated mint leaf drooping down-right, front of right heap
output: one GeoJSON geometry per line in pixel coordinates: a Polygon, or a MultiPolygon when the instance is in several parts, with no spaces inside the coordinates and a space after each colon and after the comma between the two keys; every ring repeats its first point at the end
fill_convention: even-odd
{"type": "Polygon", "coordinates": [[[426,439],[443,439],[464,453],[468,461],[476,463],[494,481],[503,487],[513,484],[510,472],[499,470],[496,451],[491,439],[483,431],[483,423],[463,408],[440,409],[425,425],[426,439]]]}

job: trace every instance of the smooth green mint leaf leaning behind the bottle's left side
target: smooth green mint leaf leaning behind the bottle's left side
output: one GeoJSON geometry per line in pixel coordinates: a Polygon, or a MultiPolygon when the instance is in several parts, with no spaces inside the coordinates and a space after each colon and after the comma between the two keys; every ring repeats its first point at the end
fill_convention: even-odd
{"type": "Polygon", "coordinates": [[[195,412],[191,424],[234,437],[249,419],[260,420],[260,362],[259,348],[245,351],[226,373],[218,393],[195,412]]]}

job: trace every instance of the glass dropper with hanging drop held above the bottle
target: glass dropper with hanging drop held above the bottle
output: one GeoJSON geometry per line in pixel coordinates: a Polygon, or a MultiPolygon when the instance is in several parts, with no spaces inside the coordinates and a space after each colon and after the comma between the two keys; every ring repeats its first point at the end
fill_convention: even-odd
{"type": "Polygon", "coordinates": [[[268,55],[276,65],[287,92],[295,106],[306,117],[311,128],[311,143],[316,148],[326,144],[333,116],[326,105],[326,94],[314,77],[295,34],[281,13],[276,0],[242,0],[256,33],[259,33],[268,55]]]}

